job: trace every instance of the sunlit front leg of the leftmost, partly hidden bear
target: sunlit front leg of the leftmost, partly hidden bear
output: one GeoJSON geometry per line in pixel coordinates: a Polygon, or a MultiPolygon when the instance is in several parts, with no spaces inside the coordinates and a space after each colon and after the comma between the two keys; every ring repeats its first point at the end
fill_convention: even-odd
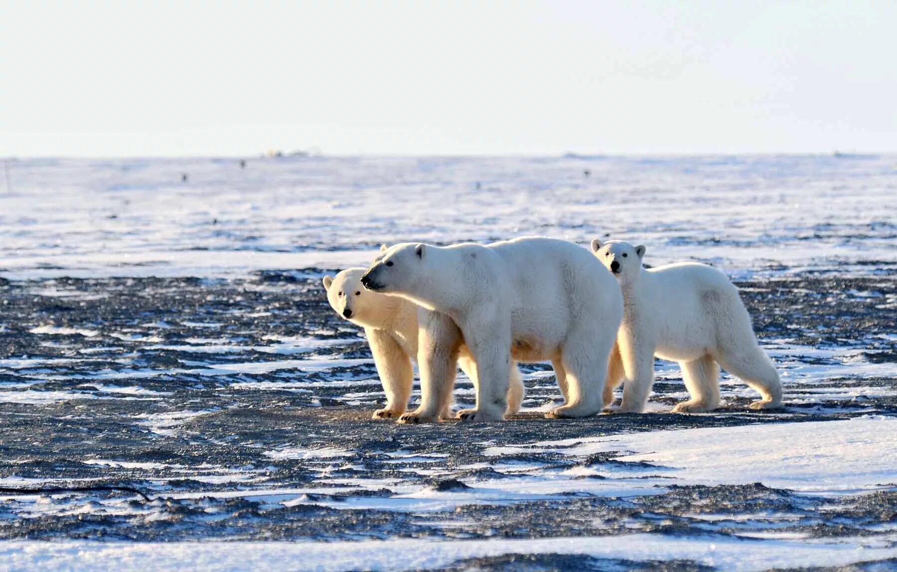
{"type": "Polygon", "coordinates": [[[408,397],[414,383],[411,358],[386,330],[364,328],[364,333],[368,336],[383,393],[387,395],[387,406],[374,412],[373,418],[397,419],[408,407],[408,397]]]}

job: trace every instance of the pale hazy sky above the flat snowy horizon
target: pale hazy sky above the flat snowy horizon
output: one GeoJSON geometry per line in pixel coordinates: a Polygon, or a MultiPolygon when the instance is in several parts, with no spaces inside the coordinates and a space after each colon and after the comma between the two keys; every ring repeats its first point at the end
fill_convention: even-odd
{"type": "Polygon", "coordinates": [[[897,2],[0,0],[0,156],[897,151],[897,2]]]}

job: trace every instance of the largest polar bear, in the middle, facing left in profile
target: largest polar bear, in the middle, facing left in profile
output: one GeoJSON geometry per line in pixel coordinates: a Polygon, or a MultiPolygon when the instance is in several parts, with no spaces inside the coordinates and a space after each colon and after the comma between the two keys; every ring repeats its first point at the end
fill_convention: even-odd
{"type": "Polygon", "coordinates": [[[451,247],[405,243],[361,277],[368,290],[413,301],[420,317],[421,406],[403,422],[437,420],[451,399],[457,348],[476,362],[476,406],[462,420],[501,420],[514,360],[551,360],[566,403],[546,417],[601,411],[607,360],[623,319],[620,287],[587,249],[553,238],[451,247]]]}

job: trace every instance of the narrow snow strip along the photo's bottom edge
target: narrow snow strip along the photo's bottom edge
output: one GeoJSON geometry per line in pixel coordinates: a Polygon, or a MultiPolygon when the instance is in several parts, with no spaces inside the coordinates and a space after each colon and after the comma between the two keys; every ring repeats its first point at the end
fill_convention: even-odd
{"type": "Polygon", "coordinates": [[[503,554],[577,554],[637,561],[687,559],[703,566],[750,572],[768,568],[840,567],[897,557],[897,534],[867,540],[800,542],[788,539],[702,539],[662,534],[489,539],[442,542],[392,540],[362,542],[0,542],[0,561],[11,569],[191,570],[425,570],[461,559],[503,554]],[[762,546],[762,549],[761,549],[762,546]]]}

